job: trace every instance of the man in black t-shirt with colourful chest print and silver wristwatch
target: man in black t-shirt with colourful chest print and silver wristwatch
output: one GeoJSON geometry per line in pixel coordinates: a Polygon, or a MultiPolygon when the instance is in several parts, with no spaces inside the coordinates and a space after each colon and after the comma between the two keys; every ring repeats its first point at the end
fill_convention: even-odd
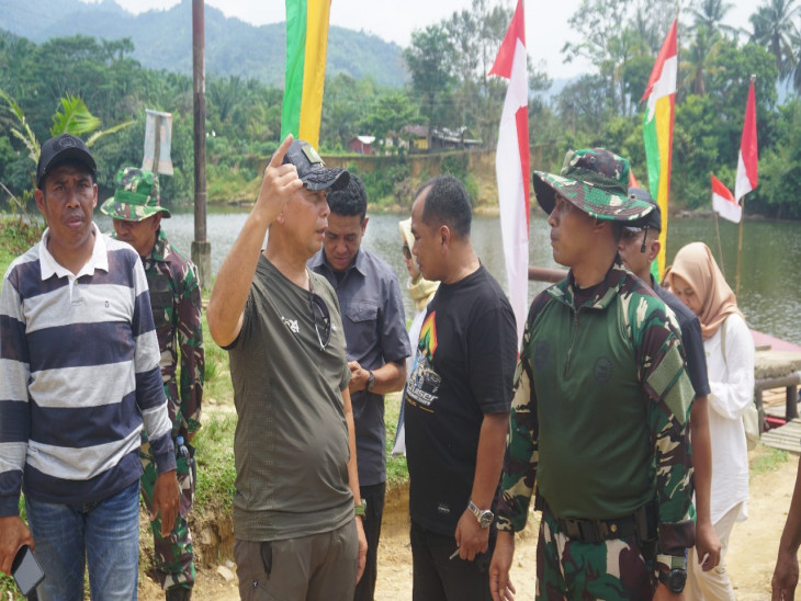
{"type": "Polygon", "coordinates": [[[490,599],[488,559],[517,358],[515,316],[470,239],[451,175],[411,208],[413,254],[439,280],[404,393],[415,600],[490,599]]]}

